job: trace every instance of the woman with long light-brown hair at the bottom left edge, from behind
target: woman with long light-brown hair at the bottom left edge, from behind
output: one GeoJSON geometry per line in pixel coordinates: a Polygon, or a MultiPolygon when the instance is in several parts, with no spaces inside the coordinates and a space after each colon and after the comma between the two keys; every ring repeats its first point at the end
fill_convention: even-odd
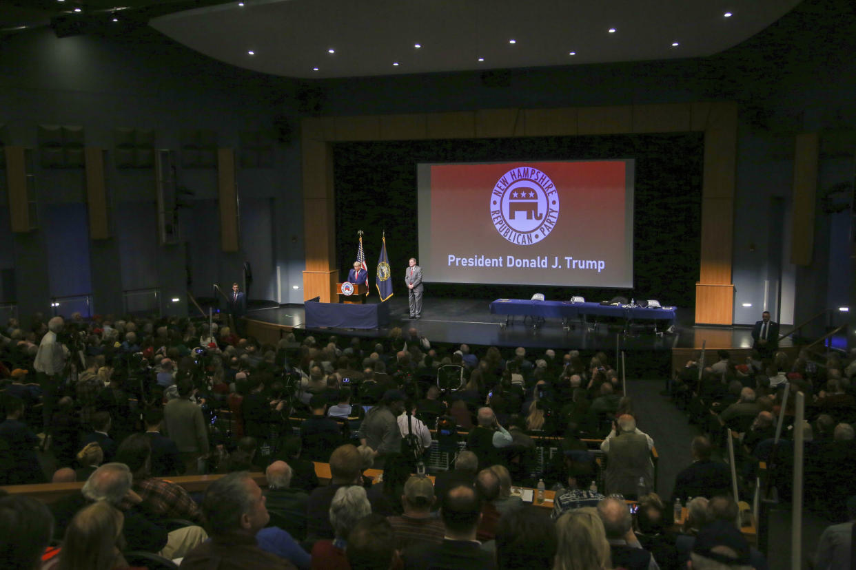
{"type": "Polygon", "coordinates": [[[124,515],[108,502],[81,508],[66,528],[58,570],[127,568],[122,556],[124,522],[124,515]]]}

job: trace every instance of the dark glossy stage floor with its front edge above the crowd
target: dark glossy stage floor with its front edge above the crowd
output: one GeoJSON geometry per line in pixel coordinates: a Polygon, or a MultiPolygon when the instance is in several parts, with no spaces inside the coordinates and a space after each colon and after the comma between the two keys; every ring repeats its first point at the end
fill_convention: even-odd
{"type": "MultiPolygon", "coordinates": [[[[693,326],[692,309],[678,309],[674,334],[657,335],[651,329],[624,333],[623,327],[601,324],[590,328],[580,322],[565,331],[559,319],[547,319],[538,328],[530,320],[523,323],[518,316],[508,326],[505,317],[490,314],[493,299],[442,299],[426,298],[420,320],[407,318],[407,297],[392,297],[389,326],[372,330],[324,328],[322,332],[338,332],[349,336],[367,338],[386,337],[394,327],[415,328],[420,336],[442,343],[468,343],[495,346],[523,346],[526,348],[552,348],[556,350],[673,350],[700,349],[747,349],[752,347],[752,329],[749,326],[693,326]]],[[[370,297],[377,302],[377,297],[370,297]]],[[[282,305],[269,309],[254,309],[247,313],[248,319],[306,331],[303,305],[282,305]]],[[[662,330],[662,329],[661,329],[662,330]]],[[[789,345],[789,338],[782,346],[789,345]]]]}

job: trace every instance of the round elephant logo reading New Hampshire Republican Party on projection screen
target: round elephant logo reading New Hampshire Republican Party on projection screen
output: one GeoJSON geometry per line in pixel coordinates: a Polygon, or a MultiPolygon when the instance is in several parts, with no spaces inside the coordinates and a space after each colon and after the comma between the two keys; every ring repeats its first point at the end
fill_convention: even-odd
{"type": "Polygon", "coordinates": [[[512,168],[490,191],[490,220],[512,244],[538,244],[558,219],[559,192],[538,168],[512,168]]]}

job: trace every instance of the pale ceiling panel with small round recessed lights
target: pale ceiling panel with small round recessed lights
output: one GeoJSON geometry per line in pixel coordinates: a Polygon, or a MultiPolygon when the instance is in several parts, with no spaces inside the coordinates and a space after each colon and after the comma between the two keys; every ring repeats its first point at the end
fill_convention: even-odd
{"type": "Polygon", "coordinates": [[[91,31],[78,18],[116,31],[148,23],[222,62],[320,79],[710,56],[751,38],[799,3],[19,0],[0,2],[0,28],[8,33],[52,19],[62,36],[91,31]]]}

